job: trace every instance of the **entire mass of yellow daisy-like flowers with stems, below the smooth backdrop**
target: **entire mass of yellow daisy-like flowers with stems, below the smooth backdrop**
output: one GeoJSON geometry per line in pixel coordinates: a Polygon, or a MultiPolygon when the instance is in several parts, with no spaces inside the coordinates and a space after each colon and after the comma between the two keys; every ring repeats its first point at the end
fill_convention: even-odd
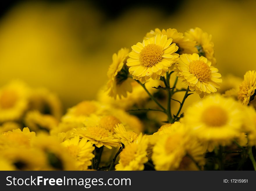
{"type": "Polygon", "coordinates": [[[97,100],[65,115],[48,90],[10,83],[0,90],[0,169],[256,170],[256,72],[221,94],[215,65],[202,29],[156,28],[113,54],[97,100]],[[201,99],[182,112],[193,92],[201,99]]]}

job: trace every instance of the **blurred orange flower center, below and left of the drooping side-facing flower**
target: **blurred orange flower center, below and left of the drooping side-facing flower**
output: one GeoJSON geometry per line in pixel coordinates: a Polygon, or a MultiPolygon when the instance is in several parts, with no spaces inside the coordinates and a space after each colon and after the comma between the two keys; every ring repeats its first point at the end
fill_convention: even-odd
{"type": "Polygon", "coordinates": [[[97,108],[93,103],[91,103],[90,101],[83,101],[76,106],[76,110],[74,113],[76,116],[80,116],[80,115],[88,116],[94,113],[96,110],[97,108]]]}

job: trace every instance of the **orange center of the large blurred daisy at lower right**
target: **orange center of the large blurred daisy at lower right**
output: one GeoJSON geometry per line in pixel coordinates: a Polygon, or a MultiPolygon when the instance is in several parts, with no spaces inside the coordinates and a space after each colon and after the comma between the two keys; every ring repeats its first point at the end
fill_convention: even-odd
{"type": "Polygon", "coordinates": [[[213,127],[220,127],[227,123],[227,112],[219,106],[210,106],[202,114],[202,121],[213,127]]]}

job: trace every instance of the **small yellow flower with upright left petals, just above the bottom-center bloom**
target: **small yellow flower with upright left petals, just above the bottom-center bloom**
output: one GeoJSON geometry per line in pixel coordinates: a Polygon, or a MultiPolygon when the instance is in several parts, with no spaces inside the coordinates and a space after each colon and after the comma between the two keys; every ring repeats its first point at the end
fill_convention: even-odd
{"type": "Polygon", "coordinates": [[[133,131],[126,131],[123,124],[116,125],[114,131],[115,136],[121,139],[122,144],[124,144],[125,146],[133,143],[138,138],[137,133],[134,133],[133,131]]]}

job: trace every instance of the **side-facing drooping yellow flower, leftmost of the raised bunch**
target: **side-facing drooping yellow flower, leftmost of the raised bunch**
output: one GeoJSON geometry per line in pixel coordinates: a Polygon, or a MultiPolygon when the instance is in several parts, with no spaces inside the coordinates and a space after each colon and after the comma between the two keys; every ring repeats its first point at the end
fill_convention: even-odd
{"type": "Polygon", "coordinates": [[[115,99],[117,95],[120,99],[122,96],[127,97],[127,92],[132,91],[128,67],[125,64],[128,53],[129,50],[126,48],[120,49],[117,54],[114,53],[113,62],[109,66],[107,90],[109,90],[108,95],[115,99]]]}

